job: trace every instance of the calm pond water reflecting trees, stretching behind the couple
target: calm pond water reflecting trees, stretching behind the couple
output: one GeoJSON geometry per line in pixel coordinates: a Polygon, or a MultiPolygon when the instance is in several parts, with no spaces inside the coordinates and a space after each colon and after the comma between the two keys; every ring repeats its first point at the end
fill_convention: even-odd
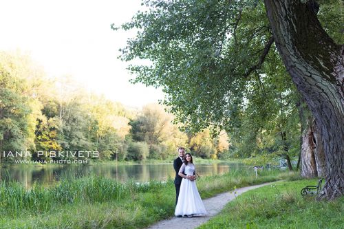
{"type": "MultiPolygon", "coordinates": [[[[237,163],[197,164],[199,175],[215,175],[242,168],[237,163]]],[[[89,175],[114,178],[120,182],[129,179],[137,182],[147,182],[149,179],[166,180],[174,178],[175,171],[172,164],[136,164],[136,165],[96,165],[96,166],[8,166],[0,168],[0,180],[21,182],[30,187],[34,182],[50,185],[61,177],[84,177],[89,175]]]]}

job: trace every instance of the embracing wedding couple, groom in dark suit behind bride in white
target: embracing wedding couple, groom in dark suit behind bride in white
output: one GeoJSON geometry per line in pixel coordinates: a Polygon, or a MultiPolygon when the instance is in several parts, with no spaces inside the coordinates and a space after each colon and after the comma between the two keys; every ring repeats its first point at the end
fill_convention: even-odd
{"type": "Polygon", "coordinates": [[[178,157],[173,161],[175,170],[175,216],[191,217],[206,215],[206,209],[195,183],[196,172],[193,157],[178,148],[178,157]]]}

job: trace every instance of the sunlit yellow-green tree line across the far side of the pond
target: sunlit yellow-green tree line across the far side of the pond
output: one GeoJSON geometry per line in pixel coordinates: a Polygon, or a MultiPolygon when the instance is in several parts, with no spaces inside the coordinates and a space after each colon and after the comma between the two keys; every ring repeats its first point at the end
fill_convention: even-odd
{"type": "Polygon", "coordinates": [[[48,78],[30,56],[0,52],[1,162],[19,159],[9,156],[15,152],[50,161],[73,160],[85,151],[98,157],[83,160],[169,160],[180,145],[203,158],[228,153],[226,133],[212,138],[208,129],[182,132],[173,118],[161,105],[130,109],[87,92],[71,76],[48,78]],[[51,157],[61,151],[72,154],[51,157]]]}

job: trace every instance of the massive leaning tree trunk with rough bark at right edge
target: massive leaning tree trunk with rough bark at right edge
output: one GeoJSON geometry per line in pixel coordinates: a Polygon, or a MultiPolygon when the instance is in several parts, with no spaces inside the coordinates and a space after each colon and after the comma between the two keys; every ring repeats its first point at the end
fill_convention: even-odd
{"type": "Polygon", "coordinates": [[[344,194],[343,45],[336,45],[323,30],[315,1],[264,2],[283,63],[321,132],[326,182],[319,198],[340,197],[344,194]]]}

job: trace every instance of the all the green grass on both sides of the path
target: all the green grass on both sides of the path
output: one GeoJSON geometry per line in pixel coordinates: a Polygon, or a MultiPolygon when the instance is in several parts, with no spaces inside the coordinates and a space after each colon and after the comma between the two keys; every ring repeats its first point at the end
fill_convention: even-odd
{"type": "MultiPolygon", "coordinates": [[[[298,173],[272,170],[260,171],[256,178],[249,169],[200,177],[197,187],[204,199],[234,187],[281,179],[300,177],[298,173]]],[[[310,180],[283,182],[244,193],[203,228],[279,228],[279,225],[290,228],[288,225],[299,226],[307,217],[312,219],[309,225],[319,228],[324,224],[314,224],[321,222],[313,223],[313,219],[324,214],[334,216],[333,221],[328,220],[329,216],[324,223],[332,222],[333,226],[338,221],[343,222],[340,215],[343,202],[341,205],[339,202],[318,203],[299,195],[301,187],[312,183],[314,181],[310,180]],[[314,213],[313,208],[319,209],[314,213]],[[292,221],[294,224],[290,224],[292,221]]],[[[28,190],[18,183],[3,182],[0,183],[0,228],[145,228],[172,217],[174,201],[173,179],[122,184],[114,179],[91,176],[63,179],[50,187],[36,184],[28,190]]]]}

